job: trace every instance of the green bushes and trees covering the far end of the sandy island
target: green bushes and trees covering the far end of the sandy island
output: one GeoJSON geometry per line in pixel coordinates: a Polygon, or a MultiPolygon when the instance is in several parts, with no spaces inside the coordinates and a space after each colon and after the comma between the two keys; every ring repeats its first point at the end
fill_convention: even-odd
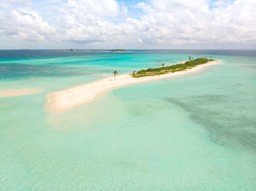
{"type": "Polygon", "coordinates": [[[176,65],[165,66],[165,67],[164,67],[164,63],[162,63],[162,67],[160,68],[146,69],[146,70],[143,69],[137,72],[133,71],[131,76],[132,77],[148,77],[148,76],[167,74],[170,72],[183,71],[183,70],[191,69],[192,67],[195,67],[200,64],[208,63],[210,61],[214,61],[214,59],[197,58],[195,60],[191,60],[190,58],[189,61],[185,63],[178,63],[176,65]]]}

